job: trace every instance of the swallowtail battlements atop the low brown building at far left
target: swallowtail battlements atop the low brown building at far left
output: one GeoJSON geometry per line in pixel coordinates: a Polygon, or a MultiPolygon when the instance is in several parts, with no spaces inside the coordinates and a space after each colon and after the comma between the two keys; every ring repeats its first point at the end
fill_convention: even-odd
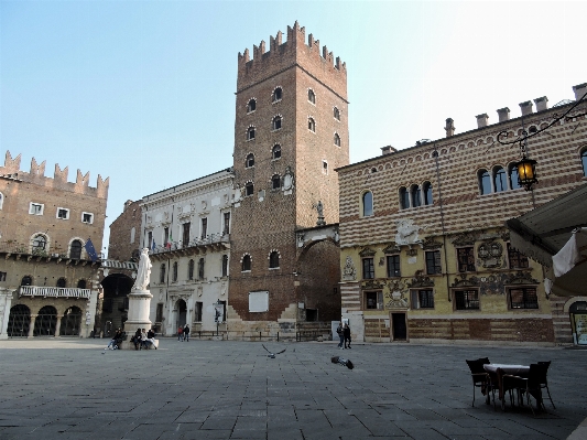
{"type": "Polygon", "coordinates": [[[25,172],[20,170],[21,159],[21,154],[12,159],[10,151],[7,151],[4,167],[0,167],[0,174],[10,174],[24,183],[32,183],[45,187],[55,187],[64,191],[70,191],[73,193],[95,196],[98,198],[107,198],[108,196],[108,186],[110,185],[109,178],[102,180],[101,175],[98,174],[96,187],[91,187],[89,186],[89,172],[81,174],[81,171],[77,170],[76,181],[67,182],[67,175],[69,172],[68,167],[65,167],[62,170],[59,164],[56,163],[54,178],[51,179],[45,176],[46,161],[37,163],[36,159],[32,158],[30,172],[25,172]]]}

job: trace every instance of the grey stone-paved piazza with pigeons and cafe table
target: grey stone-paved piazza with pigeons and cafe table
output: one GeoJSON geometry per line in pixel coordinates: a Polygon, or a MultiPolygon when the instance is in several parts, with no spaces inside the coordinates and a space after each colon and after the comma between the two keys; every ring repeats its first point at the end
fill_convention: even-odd
{"type": "Polygon", "coordinates": [[[587,416],[587,351],[413,344],[0,342],[0,439],[566,439],[587,416]],[[104,354],[102,354],[104,353],[104,354]],[[348,356],[354,371],[330,363],[348,356]],[[556,405],[493,410],[466,358],[552,361],[556,405]]]}

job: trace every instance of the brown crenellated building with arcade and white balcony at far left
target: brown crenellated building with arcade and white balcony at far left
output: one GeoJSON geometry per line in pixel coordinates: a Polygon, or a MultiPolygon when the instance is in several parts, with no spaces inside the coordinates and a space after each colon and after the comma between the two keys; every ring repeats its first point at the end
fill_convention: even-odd
{"type": "Polygon", "coordinates": [[[98,297],[108,179],[6,154],[0,167],[0,337],[87,336],[98,297]],[[91,240],[95,255],[86,245],[91,240]]]}

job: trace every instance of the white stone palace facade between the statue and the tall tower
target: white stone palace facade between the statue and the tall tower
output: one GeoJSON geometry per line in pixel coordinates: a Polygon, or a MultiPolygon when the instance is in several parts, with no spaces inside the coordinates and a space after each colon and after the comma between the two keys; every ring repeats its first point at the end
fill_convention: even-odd
{"type": "Polygon", "coordinates": [[[174,335],[185,324],[208,336],[226,333],[232,187],[226,169],[141,202],[139,244],[153,265],[150,320],[161,334],[174,335]]]}

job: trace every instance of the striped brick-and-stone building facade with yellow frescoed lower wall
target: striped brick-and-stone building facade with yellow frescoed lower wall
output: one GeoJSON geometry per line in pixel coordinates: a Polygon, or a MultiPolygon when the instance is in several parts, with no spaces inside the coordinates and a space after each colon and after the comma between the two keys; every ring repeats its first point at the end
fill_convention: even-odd
{"type": "MultiPolygon", "coordinates": [[[[576,100],[587,85],[574,87],[576,100]]],[[[343,316],[374,342],[570,343],[574,299],[547,296],[540,264],[509,246],[504,222],[587,182],[586,105],[520,105],[540,183],[519,187],[522,118],[498,110],[478,128],[338,169],[343,316]]],[[[586,291],[587,293],[587,291],[586,291]]],[[[583,299],[584,300],[584,299],[583,299]]]]}

